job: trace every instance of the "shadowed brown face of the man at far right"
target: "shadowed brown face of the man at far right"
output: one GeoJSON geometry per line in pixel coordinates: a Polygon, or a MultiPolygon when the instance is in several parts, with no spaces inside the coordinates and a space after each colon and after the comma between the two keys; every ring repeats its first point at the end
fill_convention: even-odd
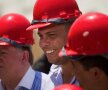
{"type": "Polygon", "coordinates": [[[94,90],[94,80],[91,70],[85,70],[83,65],[79,61],[72,61],[75,68],[75,76],[77,77],[79,84],[84,90],[94,90]]]}

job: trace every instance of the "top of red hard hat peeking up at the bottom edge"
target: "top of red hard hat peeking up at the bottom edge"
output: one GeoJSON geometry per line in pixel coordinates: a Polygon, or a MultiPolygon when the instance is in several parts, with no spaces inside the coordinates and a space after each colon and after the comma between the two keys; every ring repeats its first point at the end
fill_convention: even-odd
{"type": "Polygon", "coordinates": [[[63,84],[54,88],[54,90],[83,90],[81,87],[72,84],[63,84]]]}

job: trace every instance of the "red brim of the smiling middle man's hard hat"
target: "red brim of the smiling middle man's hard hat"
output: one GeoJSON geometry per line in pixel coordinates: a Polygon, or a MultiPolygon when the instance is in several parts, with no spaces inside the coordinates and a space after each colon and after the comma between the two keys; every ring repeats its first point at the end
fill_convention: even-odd
{"type": "Polygon", "coordinates": [[[46,26],[51,25],[51,23],[38,23],[38,24],[34,24],[29,26],[26,30],[34,30],[34,29],[39,29],[39,28],[43,28],[46,26]]]}

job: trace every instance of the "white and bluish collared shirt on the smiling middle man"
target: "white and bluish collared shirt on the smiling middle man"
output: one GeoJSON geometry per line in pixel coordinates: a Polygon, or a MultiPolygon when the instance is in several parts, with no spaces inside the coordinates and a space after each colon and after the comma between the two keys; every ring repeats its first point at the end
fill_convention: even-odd
{"type": "MultiPolygon", "coordinates": [[[[49,72],[49,81],[53,84],[51,86],[46,86],[52,90],[55,86],[63,84],[63,78],[62,78],[62,68],[60,65],[52,65],[50,72],[49,72]]],[[[72,77],[70,84],[79,85],[79,82],[77,81],[76,77],[72,77]]]]}

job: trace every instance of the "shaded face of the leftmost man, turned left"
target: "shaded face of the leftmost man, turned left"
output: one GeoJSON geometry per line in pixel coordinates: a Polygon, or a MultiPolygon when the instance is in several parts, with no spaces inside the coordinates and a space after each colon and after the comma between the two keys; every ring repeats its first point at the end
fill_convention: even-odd
{"type": "MultiPolygon", "coordinates": [[[[17,74],[21,65],[22,53],[12,46],[0,46],[0,78],[17,74]]],[[[21,69],[21,68],[20,68],[21,69]]]]}

